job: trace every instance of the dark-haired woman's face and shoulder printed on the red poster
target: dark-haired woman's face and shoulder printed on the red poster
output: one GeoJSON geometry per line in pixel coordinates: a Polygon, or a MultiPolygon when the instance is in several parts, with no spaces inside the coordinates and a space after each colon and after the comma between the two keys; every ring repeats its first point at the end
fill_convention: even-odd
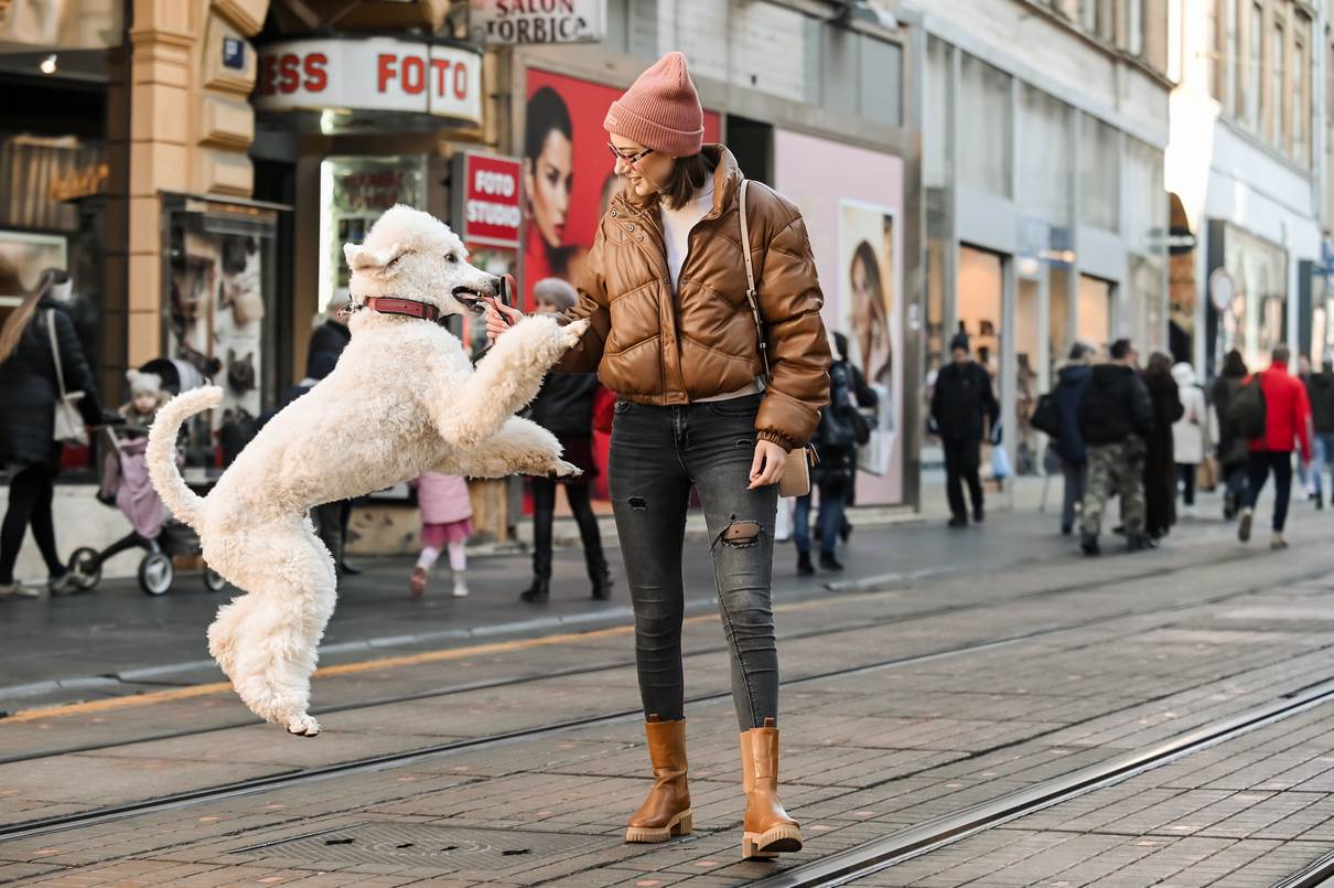
{"type": "Polygon", "coordinates": [[[583,248],[566,243],[574,171],[570,108],[559,92],[542,87],[528,99],[523,134],[523,192],[528,196],[524,278],[528,280],[552,276],[570,280],[582,260],[583,248]]]}

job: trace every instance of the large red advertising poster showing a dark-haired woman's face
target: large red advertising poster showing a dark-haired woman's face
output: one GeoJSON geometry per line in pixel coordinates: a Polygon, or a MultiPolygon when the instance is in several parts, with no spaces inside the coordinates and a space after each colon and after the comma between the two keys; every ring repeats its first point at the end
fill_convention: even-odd
{"type": "MultiPolygon", "coordinates": [[[[624,89],[548,71],[528,69],[524,115],[523,194],[527,231],[523,254],[523,308],[532,308],[532,284],[564,278],[578,284],[598,220],[615,192],[614,159],[602,128],[607,108],[624,89]]],[[[718,142],[722,122],[704,111],[704,142],[718,142]]],[[[594,494],[607,498],[608,435],[594,435],[602,471],[594,494]]]]}

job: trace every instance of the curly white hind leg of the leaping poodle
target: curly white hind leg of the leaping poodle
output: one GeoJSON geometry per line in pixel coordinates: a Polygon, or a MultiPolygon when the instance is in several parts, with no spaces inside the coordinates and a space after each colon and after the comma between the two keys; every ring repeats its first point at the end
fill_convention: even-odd
{"type": "Polygon", "coordinates": [[[252,572],[249,594],[219,614],[211,646],[231,658],[231,669],[221,656],[219,662],[252,712],[313,737],[320,726],[307,706],[316,649],[334,613],[334,560],[304,521],[271,523],[252,538],[263,541],[252,551],[263,570],[252,572]]]}

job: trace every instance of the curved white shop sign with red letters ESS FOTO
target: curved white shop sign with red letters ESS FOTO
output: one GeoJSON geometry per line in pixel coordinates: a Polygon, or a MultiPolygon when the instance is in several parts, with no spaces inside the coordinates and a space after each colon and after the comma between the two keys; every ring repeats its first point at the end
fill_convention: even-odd
{"type": "Polygon", "coordinates": [[[396,111],[482,123],[482,53],[396,37],[284,40],[260,48],[257,111],[396,111]]]}

